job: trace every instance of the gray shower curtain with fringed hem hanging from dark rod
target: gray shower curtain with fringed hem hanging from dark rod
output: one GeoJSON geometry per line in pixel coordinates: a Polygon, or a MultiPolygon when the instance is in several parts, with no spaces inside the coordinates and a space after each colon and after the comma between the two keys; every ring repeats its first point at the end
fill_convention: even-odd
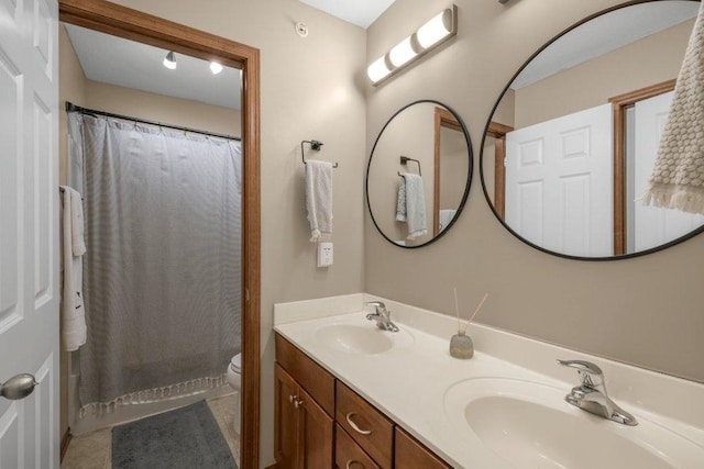
{"type": "Polygon", "coordinates": [[[227,384],[240,351],[241,149],[69,114],[84,194],[81,415],[227,384]]]}

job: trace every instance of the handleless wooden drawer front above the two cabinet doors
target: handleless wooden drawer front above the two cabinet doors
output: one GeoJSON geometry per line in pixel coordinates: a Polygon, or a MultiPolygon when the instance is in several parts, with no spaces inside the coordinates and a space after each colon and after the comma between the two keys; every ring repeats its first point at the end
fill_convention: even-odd
{"type": "Polygon", "coordinates": [[[276,361],[328,413],[334,415],[334,378],[320,365],[276,334],[276,361]]]}

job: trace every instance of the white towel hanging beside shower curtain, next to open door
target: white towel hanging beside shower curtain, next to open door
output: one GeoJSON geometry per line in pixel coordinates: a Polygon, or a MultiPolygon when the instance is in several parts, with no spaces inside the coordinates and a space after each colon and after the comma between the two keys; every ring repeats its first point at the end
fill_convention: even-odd
{"type": "MultiPolygon", "coordinates": [[[[64,289],[62,294],[62,337],[66,350],[77,350],[86,343],[86,306],[82,293],[82,257],[76,256],[74,246],[74,233],[81,233],[74,224],[80,222],[82,225],[82,213],[74,213],[74,208],[80,210],[80,194],[74,189],[63,186],[62,198],[62,256],[64,263],[64,289]],[[77,200],[77,204],[74,202],[77,200]]],[[[82,212],[82,211],[81,211],[82,212]]],[[[85,253],[85,244],[84,250],[85,253]]]]}

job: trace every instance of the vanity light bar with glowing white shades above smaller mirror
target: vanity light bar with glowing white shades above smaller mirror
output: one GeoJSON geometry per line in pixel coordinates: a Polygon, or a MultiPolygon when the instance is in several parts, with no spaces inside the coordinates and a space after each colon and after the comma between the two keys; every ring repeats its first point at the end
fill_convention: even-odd
{"type": "Polygon", "coordinates": [[[384,56],[374,60],[366,69],[366,75],[376,86],[457,33],[458,8],[453,4],[396,44],[384,56]]]}

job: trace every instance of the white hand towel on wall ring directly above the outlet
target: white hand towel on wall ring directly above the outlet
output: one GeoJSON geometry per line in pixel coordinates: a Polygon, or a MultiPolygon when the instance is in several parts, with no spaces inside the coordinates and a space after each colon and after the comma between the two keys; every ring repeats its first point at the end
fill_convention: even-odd
{"type": "Polygon", "coordinates": [[[310,242],[332,237],[332,164],[306,161],[306,209],[310,222],[310,242]]]}

